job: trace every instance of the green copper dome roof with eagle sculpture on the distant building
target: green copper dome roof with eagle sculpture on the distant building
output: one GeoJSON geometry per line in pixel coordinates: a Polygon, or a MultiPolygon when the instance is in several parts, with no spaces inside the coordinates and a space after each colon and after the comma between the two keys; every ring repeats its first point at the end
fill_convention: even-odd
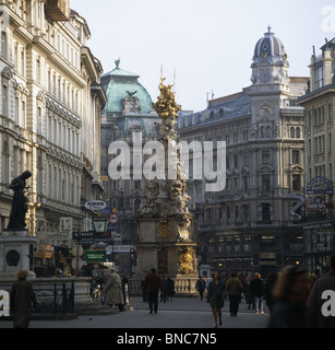
{"type": "MultiPolygon", "coordinates": [[[[120,60],[116,61],[116,66],[112,71],[101,77],[101,84],[107,95],[105,114],[124,114],[124,98],[134,103],[133,114],[151,114],[153,112],[152,97],[139,83],[140,75],[120,69],[120,60]]],[[[125,110],[129,110],[129,107],[125,110]]]]}

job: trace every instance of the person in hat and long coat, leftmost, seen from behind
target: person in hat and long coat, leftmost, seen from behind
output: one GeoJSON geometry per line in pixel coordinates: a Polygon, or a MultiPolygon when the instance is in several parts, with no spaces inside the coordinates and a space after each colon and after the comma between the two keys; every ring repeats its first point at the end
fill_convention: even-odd
{"type": "Polygon", "coordinates": [[[14,328],[28,328],[32,304],[37,306],[36,296],[31,282],[26,280],[27,270],[20,270],[16,275],[16,281],[12,284],[10,292],[10,307],[14,314],[14,328]]]}

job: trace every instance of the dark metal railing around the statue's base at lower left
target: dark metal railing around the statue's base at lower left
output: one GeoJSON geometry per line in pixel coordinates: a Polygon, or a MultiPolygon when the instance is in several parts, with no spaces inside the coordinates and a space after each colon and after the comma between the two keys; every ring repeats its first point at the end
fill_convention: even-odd
{"type": "MultiPolygon", "coordinates": [[[[74,282],[33,284],[37,306],[32,314],[71,315],[74,313],[74,282]]],[[[11,285],[1,284],[0,290],[11,291],[11,285]]]]}

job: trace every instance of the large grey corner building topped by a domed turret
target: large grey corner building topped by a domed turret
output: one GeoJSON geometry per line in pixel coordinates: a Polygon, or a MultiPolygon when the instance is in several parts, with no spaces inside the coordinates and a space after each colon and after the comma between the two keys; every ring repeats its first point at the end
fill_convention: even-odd
{"type": "Polygon", "coordinates": [[[211,269],[249,273],[302,262],[300,219],[304,186],[303,108],[308,78],[290,78],[284,45],[268,28],[256,43],[252,85],[181,114],[181,138],[226,141],[226,188],[205,192],[192,180],[199,260],[211,269]]]}

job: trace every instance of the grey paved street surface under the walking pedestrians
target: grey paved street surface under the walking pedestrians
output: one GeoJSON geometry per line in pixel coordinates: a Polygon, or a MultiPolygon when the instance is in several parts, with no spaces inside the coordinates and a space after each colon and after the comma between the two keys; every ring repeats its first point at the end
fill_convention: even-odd
{"type": "MultiPolygon", "coordinates": [[[[168,328],[210,329],[214,319],[207,304],[200,299],[175,299],[159,303],[158,313],[149,315],[147,304],[140,298],[131,299],[132,311],[108,316],[80,316],[73,320],[32,322],[29,328],[168,328]]],[[[242,302],[238,317],[230,317],[229,302],[226,302],[220,328],[266,328],[268,312],[256,315],[242,302]]],[[[11,328],[11,322],[0,322],[0,328],[11,328]]]]}

